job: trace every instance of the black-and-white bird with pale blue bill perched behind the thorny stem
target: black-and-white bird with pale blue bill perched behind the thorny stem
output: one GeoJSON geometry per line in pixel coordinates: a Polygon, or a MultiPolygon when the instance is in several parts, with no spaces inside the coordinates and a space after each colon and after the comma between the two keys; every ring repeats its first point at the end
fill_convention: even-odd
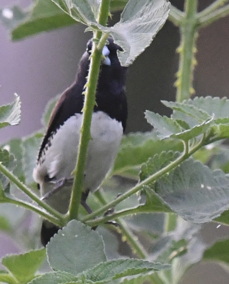
{"type": "MultiPolygon", "coordinates": [[[[88,76],[92,40],[78,65],[72,85],[57,101],[50,115],[48,127],[38,153],[33,178],[40,189],[41,199],[62,214],[68,212],[75,168],[86,78],[88,76]]],[[[89,192],[96,191],[114,165],[123,132],[126,128],[128,108],[126,97],[127,67],[121,66],[117,51],[123,51],[113,38],[108,37],[102,50],[96,104],[91,120],[91,140],[88,145],[81,204],[86,204],[89,192]]],[[[43,219],[41,243],[46,246],[60,227],[43,219]]]]}

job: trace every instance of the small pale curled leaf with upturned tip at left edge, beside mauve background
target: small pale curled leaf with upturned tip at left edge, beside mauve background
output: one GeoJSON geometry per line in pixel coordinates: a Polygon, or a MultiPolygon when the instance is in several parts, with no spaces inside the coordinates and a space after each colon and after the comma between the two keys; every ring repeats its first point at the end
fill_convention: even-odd
{"type": "Polygon", "coordinates": [[[21,101],[15,94],[15,100],[11,104],[0,107],[0,128],[7,125],[17,125],[21,120],[21,101]]]}

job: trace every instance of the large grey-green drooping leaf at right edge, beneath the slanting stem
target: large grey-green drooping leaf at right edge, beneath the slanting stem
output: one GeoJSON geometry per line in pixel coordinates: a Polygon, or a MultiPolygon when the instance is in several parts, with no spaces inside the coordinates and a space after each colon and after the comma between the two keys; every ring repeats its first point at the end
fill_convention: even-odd
{"type": "Polygon", "coordinates": [[[194,223],[210,222],[229,207],[229,177],[192,159],[152,188],[173,211],[194,223]]]}

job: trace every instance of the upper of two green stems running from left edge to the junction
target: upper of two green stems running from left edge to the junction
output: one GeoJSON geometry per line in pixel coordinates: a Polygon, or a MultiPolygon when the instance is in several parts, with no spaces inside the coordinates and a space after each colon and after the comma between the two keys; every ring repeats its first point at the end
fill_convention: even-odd
{"type": "MultiPolygon", "coordinates": [[[[52,214],[54,217],[59,219],[60,222],[62,222],[64,220],[63,215],[61,213],[59,213],[57,210],[53,209],[51,206],[46,204],[44,201],[41,201],[38,196],[36,196],[33,192],[30,191],[30,188],[28,188],[26,185],[24,185],[14,174],[12,174],[4,165],[2,165],[2,163],[0,163],[0,172],[2,172],[2,174],[4,174],[7,178],[9,178],[9,180],[12,183],[14,183],[18,188],[20,188],[23,192],[25,192],[25,194],[28,195],[38,205],[40,205],[46,211],[48,211],[50,214],[52,214]]],[[[11,199],[9,199],[9,200],[11,200],[11,199]]],[[[17,202],[19,202],[19,201],[17,201],[17,202]]],[[[26,207],[27,205],[28,204],[25,203],[24,201],[20,201],[20,206],[26,207]]],[[[33,206],[33,208],[36,208],[36,207],[33,206]]],[[[31,208],[30,208],[30,210],[31,210],[31,208]]],[[[33,211],[35,211],[35,210],[33,210],[33,211]]],[[[40,213],[42,213],[42,214],[44,213],[39,208],[36,208],[37,213],[38,213],[38,211],[40,211],[40,213]]]]}

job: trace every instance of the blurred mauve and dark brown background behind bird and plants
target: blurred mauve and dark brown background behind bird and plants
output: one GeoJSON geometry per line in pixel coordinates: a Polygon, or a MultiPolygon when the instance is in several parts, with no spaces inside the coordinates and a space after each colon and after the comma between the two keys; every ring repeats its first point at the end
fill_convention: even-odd
{"type": "MultiPolygon", "coordinates": [[[[213,1],[199,1],[199,10],[213,1]]],[[[1,0],[0,8],[19,5],[28,7],[30,0],[1,0]]],[[[171,0],[182,9],[183,0],[171,0]]],[[[113,21],[119,14],[113,16],[113,21]]],[[[85,26],[75,25],[38,34],[17,42],[10,41],[8,31],[0,25],[0,105],[12,102],[16,92],[21,97],[21,124],[1,130],[0,143],[27,136],[41,128],[41,116],[50,98],[62,93],[74,80],[77,65],[85,51],[90,33],[85,26]]],[[[229,96],[229,17],[218,20],[199,32],[196,54],[198,65],[194,73],[197,96],[229,96]]],[[[144,119],[146,109],[169,115],[160,100],[174,100],[175,73],[178,69],[176,48],[179,30],[169,21],[157,34],[150,47],[129,67],[127,97],[129,118],[126,132],[147,131],[151,127],[144,119]]],[[[228,228],[216,229],[216,224],[204,226],[206,240],[215,235],[229,235],[228,228]]],[[[0,256],[16,252],[7,237],[0,236],[0,256]],[[4,248],[2,241],[5,242],[4,248]]],[[[229,283],[228,274],[212,263],[195,265],[182,282],[229,283]]]]}

